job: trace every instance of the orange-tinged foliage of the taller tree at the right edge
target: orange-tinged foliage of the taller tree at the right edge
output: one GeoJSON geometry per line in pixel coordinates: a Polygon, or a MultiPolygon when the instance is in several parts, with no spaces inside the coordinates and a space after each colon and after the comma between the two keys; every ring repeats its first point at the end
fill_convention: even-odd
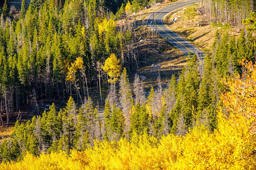
{"type": "MultiPolygon", "coordinates": [[[[227,113],[240,113],[247,118],[256,117],[256,68],[251,62],[244,64],[245,60],[241,61],[245,66],[245,73],[242,78],[232,78],[231,80],[224,80],[227,92],[221,95],[223,105],[227,113]]],[[[230,114],[236,116],[236,114],[230,114]]],[[[255,133],[255,123],[251,130],[255,133]]]]}

